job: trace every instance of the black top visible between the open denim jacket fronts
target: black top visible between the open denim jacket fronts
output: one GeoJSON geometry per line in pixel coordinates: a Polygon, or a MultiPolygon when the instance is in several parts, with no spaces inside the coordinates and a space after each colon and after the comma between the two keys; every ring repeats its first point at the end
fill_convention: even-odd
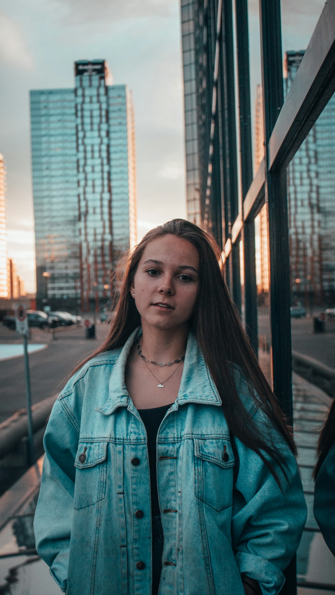
{"type": "Polygon", "coordinates": [[[162,423],[163,417],[170,408],[169,405],[155,407],[154,409],[138,409],[142,422],[147,430],[148,437],[148,457],[150,471],[150,495],[151,495],[151,515],[160,515],[159,499],[157,490],[157,471],[156,471],[156,439],[157,433],[162,423]]]}

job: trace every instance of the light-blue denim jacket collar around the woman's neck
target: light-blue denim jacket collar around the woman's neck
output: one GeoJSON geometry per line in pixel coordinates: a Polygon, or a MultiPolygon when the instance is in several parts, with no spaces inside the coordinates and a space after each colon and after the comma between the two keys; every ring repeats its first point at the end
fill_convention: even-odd
{"type": "MultiPolygon", "coordinates": [[[[103,407],[97,409],[104,415],[114,413],[120,406],[129,406],[131,399],[125,385],[125,367],[131,347],[140,333],[141,327],[136,328],[122,347],[110,377],[108,399],[103,407]]],[[[181,384],[172,408],[178,409],[178,405],[184,405],[184,403],[202,403],[204,405],[221,405],[222,403],[193,331],[188,333],[181,384]]]]}

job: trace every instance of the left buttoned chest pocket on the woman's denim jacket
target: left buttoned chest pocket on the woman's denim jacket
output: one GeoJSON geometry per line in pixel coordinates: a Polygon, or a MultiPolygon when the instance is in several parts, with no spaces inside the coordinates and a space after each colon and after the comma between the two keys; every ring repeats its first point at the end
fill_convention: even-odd
{"type": "Polygon", "coordinates": [[[79,442],[75,467],[75,494],[73,507],[76,510],[92,506],[103,500],[106,494],[108,441],[79,442]]]}

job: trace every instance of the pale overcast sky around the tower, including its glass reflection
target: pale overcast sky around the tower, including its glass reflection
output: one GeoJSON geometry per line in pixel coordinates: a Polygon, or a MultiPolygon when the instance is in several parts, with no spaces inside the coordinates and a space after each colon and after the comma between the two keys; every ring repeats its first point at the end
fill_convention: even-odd
{"type": "MultiPolygon", "coordinates": [[[[305,49],[322,0],[283,0],[283,51],[305,49]]],[[[258,0],[249,0],[252,99],[260,83],[258,0]]],[[[178,0],[0,0],[0,152],[7,165],[8,255],[35,290],[29,90],[73,87],[75,60],[108,61],[133,90],[138,238],[186,217],[178,0]]]]}

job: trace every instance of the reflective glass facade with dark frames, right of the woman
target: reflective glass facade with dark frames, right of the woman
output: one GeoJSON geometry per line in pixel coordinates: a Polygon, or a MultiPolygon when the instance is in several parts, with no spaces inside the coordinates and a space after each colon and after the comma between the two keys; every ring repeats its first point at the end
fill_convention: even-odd
{"type": "Polygon", "coordinates": [[[181,0],[186,143],[193,122],[197,139],[186,154],[198,146],[200,226],[222,247],[229,292],[293,425],[308,519],[281,595],[322,595],[335,593],[312,479],[334,397],[321,369],[335,369],[333,310],[325,310],[335,305],[335,2],[325,3],[306,52],[287,52],[283,79],[280,0],[259,1],[253,158],[249,13],[255,20],[249,0],[181,0]]]}

